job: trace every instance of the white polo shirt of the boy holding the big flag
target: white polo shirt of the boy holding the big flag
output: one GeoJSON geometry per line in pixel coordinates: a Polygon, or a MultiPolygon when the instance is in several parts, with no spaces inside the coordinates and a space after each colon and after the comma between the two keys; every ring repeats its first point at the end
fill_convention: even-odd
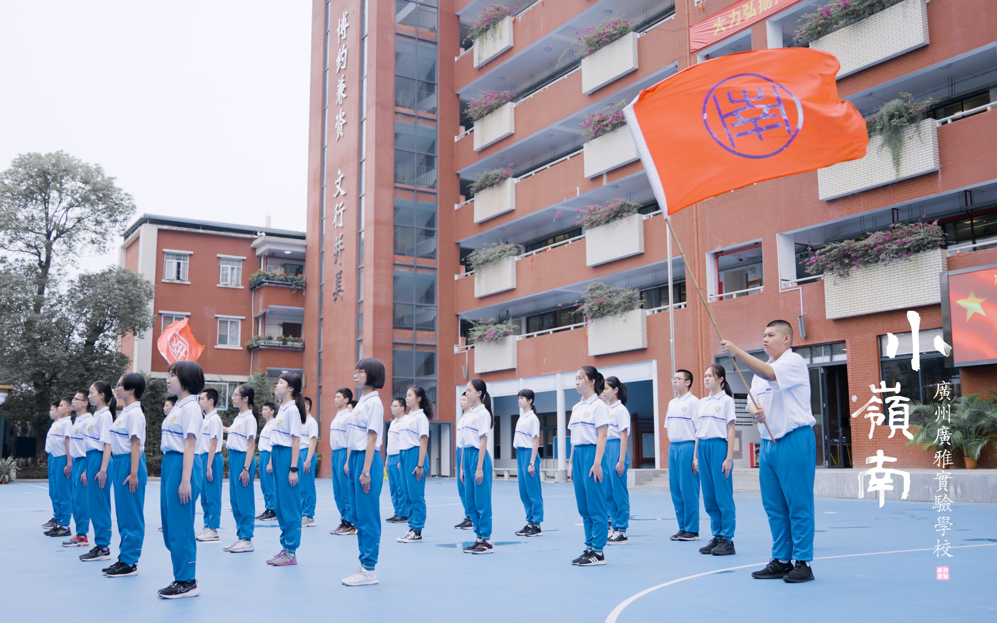
{"type": "MultiPolygon", "coordinates": [[[[799,353],[786,351],[778,361],[769,359],[769,365],[776,371],[775,381],[766,381],[755,375],[751,391],[765,409],[765,421],[769,423],[776,439],[782,439],[800,427],[813,427],[817,424],[811,411],[810,370],[799,353]]],[[[771,440],[769,432],[761,422],[758,430],[762,439],[771,440]]]]}

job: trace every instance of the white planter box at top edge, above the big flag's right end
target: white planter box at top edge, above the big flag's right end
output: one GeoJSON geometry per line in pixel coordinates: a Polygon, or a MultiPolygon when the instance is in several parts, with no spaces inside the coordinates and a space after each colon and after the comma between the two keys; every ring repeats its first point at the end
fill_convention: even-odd
{"type": "Polygon", "coordinates": [[[837,57],[841,79],[928,43],[927,5],[923,0],[904,0],[812,41],[810,47],[837,57]]]}

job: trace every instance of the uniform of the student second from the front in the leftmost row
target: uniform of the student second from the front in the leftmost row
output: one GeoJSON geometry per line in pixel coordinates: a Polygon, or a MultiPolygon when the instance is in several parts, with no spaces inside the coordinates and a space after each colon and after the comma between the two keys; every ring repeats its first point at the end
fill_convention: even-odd
{"type": "Polygon", "coordinates": [[[125,564],[139,562],[146,540],[146,415],[139,401],[127,405],[111,425],[111,466],[108,479],[115,487],[115,515],[118,518],[118,559],[125,564]],[[132,473],[132,438],[139,439],[139,484],[129,490],[125,479],[132,473]]]}

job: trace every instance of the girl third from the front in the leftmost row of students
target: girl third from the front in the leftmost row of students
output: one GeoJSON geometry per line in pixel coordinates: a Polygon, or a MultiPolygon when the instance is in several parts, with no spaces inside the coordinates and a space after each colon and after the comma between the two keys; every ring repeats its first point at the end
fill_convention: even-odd
{"type": "Polygon", "coordinates": [[[80,556],[80,560],[91,562],[111,559],[111,487],[107,486],[107,479],[111,463],[111,425],[118,401],[107,381],[91,385],[87,398],[97,412],[84,435],[87,470],[80,481],[90,490],[87,500],[90,502],[90,521],[94,524],[94,547],[80,556]]]}

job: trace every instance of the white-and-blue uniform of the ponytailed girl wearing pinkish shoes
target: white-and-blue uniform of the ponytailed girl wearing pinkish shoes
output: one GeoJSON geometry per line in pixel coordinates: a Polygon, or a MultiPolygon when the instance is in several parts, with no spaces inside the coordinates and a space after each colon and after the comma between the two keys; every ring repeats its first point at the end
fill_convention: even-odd
{"type": "Polygon", "coordinates": [[[280,546],[294,553],[301,544],[301,468],[304,467],[301,453],[291,461],[291,444],[294,438],[301,439],[301,412],[294,401],[280,405],[273,417],[270,429],[270,461],[273,462],[273,502],[280,524],[280,546]],[[291,486],[287,481],[291,467],[298,468],[298,483],[291,486]]]}

